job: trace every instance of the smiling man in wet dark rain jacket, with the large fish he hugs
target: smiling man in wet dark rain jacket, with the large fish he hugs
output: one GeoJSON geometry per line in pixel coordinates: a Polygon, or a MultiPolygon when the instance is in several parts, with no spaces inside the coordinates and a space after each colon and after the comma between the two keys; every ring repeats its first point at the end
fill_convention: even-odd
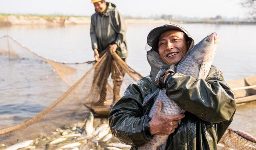
{"type": "Polygon", "coordinates": [[[130,84],[112,108],[112,134],[132,150],[216,150],[236,110],[232,90],[212,66],[217,43],[216,33],[194,46],[178,25],[154,28],[146,46],[150,75],[130,84]],[[154,140],[159,134],[167,135],[164,146],[154,146],[162,140],[154,140]]]}

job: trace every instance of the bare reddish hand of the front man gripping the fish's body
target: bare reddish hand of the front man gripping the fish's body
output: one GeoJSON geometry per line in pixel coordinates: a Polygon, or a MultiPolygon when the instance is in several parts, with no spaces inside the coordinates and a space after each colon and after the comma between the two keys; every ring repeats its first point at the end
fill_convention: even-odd
{"type": "Polygon", "coordinates": [[[170,135],[178,127],[178,120],[184,118],[184,114],[170,115],[162,112],[162,102],[157,101],[156,112],[149,122],[150,134],[170,135]]]}

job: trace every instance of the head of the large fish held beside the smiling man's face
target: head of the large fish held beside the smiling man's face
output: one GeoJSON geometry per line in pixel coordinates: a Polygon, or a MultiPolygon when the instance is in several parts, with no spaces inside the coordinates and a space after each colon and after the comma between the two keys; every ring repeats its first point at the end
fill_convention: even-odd
{"type": "Polygon", "coordinates": [[[208,60],[213,60],[214,55],[216,53],[218,44],[218,34],[212,33],[206,36],[203,40],[201,40],[198,44],[196,44],[195,48],[192,49],[192,57],[195,62],[202,63],[208,60]]]}

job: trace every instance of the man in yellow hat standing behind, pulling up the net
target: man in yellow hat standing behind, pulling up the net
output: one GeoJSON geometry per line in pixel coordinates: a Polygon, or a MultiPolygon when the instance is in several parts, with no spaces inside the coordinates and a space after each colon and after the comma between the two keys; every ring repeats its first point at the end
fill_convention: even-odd
{"type": "MultiPolygon", "coordinates": [[[[114,50],[122,60],[125,61],[127,56],[126,46],[126,26],[121,14],[116,9],[116,5],[106,2],[106,0],[92,0],[95,13],[91,16],[90,36],[92,40],[92,49],[94,50],[94,58],[98,62],[102,56],[103,50],[109,47],[114,50]]],[[[102,70],[104,71],[104,70],[102,70]]],[[[97,74],[94,74],[94,78],[97,74]]],[[[124,71],[120,73],[112,72],[114,80],[113,87],[113,104],[120,98],[120,87],[123,82],[124,71]]],[[[100,92],[100,100],[98,104],[106,105],[106,84],[102,82],[103,88],[100,92]]]]}

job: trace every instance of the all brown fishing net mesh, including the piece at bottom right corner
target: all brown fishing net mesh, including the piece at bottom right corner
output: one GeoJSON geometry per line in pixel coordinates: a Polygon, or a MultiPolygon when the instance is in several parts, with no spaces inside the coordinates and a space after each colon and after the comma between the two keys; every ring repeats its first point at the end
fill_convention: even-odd
{"type": "MultiPolygon", "coordinates": [[[[111,104],[142,76],[109,48],[101,55],[96,64],[66,64],[39,56],[9,36],[0,38],[0,119],[12,120],[1,121],[0,143],[50,135],[84,120],[90,111],[107,116],[111,104]],[[31,104],[30,115],[17,117],[22,111],[15,110],[31,104]],[[8,114],[10,106],[14,109],[8,114]]],[[[255,149],[256,142],[248,137],[228,129],[218,148],[255,149]]]]}

